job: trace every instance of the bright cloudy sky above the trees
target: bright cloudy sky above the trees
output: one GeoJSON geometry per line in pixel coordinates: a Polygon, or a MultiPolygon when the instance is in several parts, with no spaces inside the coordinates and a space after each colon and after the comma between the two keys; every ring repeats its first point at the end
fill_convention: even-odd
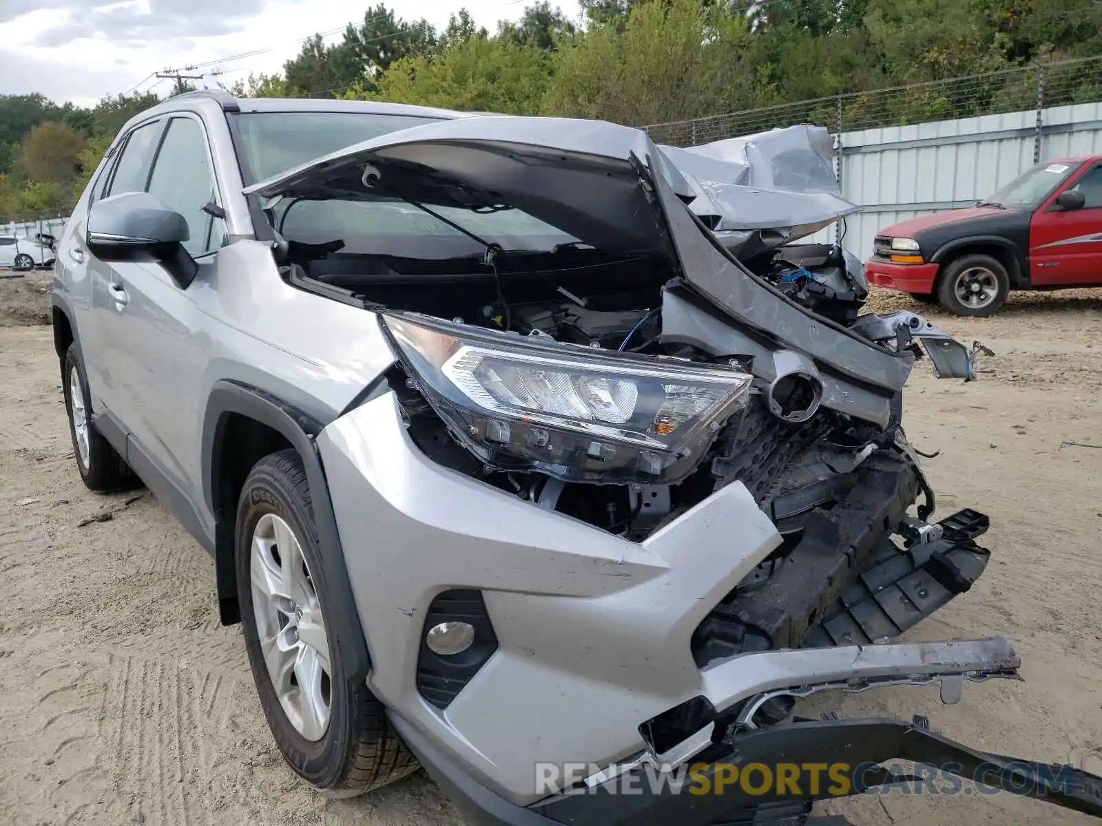
{"type": "MultiPolygon", "coordinates": [[[[519,18],[527,1],[422,0],[412,10],[392,8],[407,20],[423,17],[442,28],[450,14],[466,7],[477,24],[494,31],[498,20],[519,18]]],[[[375,0],[4,0],[0,94],[40,91],[57,102],[89,106],[136,85],[145,89],[154,83],[150,76],[166,67],[256,50],[270,51],[199,70],[224,69],[226,74],[217,78],[224,83],[250,70],[272,73],[298,54],[303,37],[361,21],[374,4],[375,0]]],[[[572,15],[577,11],[574,0],[566,0],[563,9],[572,15]]],[[[154,87],[164,88],[163,83],[154,87]]]]}

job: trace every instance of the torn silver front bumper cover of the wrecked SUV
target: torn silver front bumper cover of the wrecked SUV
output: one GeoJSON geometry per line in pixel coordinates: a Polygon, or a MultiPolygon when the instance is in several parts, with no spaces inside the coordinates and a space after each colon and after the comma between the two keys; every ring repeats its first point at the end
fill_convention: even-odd
{"type": "MultiPolygon", "coordinates": [[[[604,769],[633,758],[650,748],[641,724],[694,698],[719,719],[793,684],[991,666],[975,651],[962,664],[959,648],[882,645],[735,651],[698,663],[694,631],[781,542],[741,482],[634,543],[435,464],[411,443],[389,392],[328,425],[317,446],[371,660],[368,686],[510,804],[545,796],[536,760],[604,769]],[[444,594],[485,610],[494,645],[440,703],[430,702],[440,693],[425,692],[419,657],[444,594]]],[[[900,483],[896,504],[886,500],[877,524],[900,517],[912,483],[900,483]]],[[[835,530],[854,545],[853,564],[872,562],[876,544],[861,524],[835,530]]],[[[827,551],[818,553],[829,562],[827,551]]],[[[838,573],[822,567],[825,577],[838,573]]],[[[806,626],[814,610],[798,601],[781,627],[806,626]]],[[[755,616],[774,628],[773,612],[755,616]]]]}

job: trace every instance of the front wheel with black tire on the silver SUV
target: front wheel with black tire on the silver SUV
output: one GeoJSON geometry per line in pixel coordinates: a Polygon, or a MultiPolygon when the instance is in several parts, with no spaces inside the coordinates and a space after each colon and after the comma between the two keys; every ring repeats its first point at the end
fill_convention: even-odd
{"type": "Polygon", "coordinates": [[[363,682],[345,673],[337,640],[328,634],[318,638],[316,631],[309,638],[299,637],[299,629],[305,633],[311,619],[315,629],[318,621],[324,627],[327,606],[324,582],[312,576],[322,570],[321,546],[306,474],[295,450],[270,454],[253,466],[238,500],[235,543],[237,594],[249,666],[268,726],[288,764],[328,797],[361,794],[415,771],[417,760],[390,727],[382,704],[363,682]],[[280,521],[289,533],[281,533],[280,521]],[[284,557],[292,563],[288,568],[283,567],[284,557]],[[302,567],[296,564],[300,559],[302,567]],[[266,567],[261,568],[261,564],[266,567]],[[255,568],[263,572],[256,582],[255,568]],[[292,580],[301,580],[283,587],[288,570],[292,580]],[[267,576],[291,598],[269,596],[279,588],[258,585],[268,583],[267,576]],[[315,583],[320,587],[315,588],[315,583]],[[269,645],[271,657],[282,657],[274,670],[261,646],[261,629],[266,639],[284,648],[289,643],[298,646],[288,653],[280,645],[269,645]],[[315,652],[327,649],[324,653],[328,671],[325,660],[306,651],[312,648],[309,642],[320,643],[315,652]],[[315,662],[321,663],[320,671],[311,670],[315,662]],[[284,678],[273,676],[278,674],[284,678]],[[316,680],[314,674],[318,675],[316,680]],[[277,681],[281,691],[277,691],[277,681]],[[310,695],[320,703],[309,703],[310,695]],[[327,713],[324,725],[318,722],[321,714],[307,710],[312,708],[327,713]]]}

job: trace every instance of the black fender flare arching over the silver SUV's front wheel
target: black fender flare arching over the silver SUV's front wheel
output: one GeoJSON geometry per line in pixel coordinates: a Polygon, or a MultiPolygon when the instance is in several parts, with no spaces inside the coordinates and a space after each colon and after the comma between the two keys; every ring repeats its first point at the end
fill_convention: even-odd
{"type": "Polygon", "coordinates": [[[336,641],[344,666],[350,677],[365,681],[370,671],[367,641],[359,622],[359,612],[348,580],[344,548],[337,532],[336,515],[329,498],[328,482],[322,457],[314,442],[322,423],[257,388],[222,380],[214,384],[207,398],[203,420],[203,498],[215,520],[215,583],[222,621],[239,621],[237,583],[234,566],[234,513],[223,513],[218,508],[215,480],[218,478],[220,439],[225,434],[228,414],[240,414],[267,425],[282,434],[302,457],[302,465],[310,483],[314,509],[314,523],[321,543],[322,572],[320,579],[325,594],[325,623],[331,638],[336,641]]]}

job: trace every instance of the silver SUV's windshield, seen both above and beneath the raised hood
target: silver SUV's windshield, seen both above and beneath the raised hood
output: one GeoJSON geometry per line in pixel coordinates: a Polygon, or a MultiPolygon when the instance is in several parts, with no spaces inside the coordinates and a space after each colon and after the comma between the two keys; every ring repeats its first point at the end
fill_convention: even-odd
{"type": "MultiPolygon", "coordinates": [[[[375,112],[249,112],[238,116],[246,186],[380,134],[432,122],[432,118],[375,112]]],[[[505,250],[550,251],[577,239],[515,208],[430,207],[388,197],[284,198],[272,209],[276,229],[304,243],[342,241],[342,253],[449,259],[477,256],[485,244],[505,250]],[[451,224],[449,224],[451,221],[451,224]]]]}

